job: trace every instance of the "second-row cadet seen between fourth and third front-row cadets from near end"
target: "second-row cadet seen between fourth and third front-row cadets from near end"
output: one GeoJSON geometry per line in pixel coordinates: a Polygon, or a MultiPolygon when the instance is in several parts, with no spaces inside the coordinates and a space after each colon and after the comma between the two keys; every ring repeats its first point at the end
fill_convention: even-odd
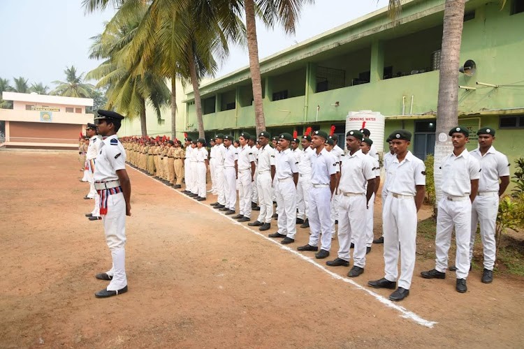
{"type": "Polygon", "coordinates": [[[303,225],[300,225],[300,228],[308,228],[310,223],[307,219],[307,211],[309,209],[310,191],[312,188],[310,157],[314,150],[310,147],[310,135],[303,135],[301,140],[303,150],[300,153],[300,161],[298,162],[298,185],[296,187],[297,223],[300,219],[303,221],[303,225]]]}

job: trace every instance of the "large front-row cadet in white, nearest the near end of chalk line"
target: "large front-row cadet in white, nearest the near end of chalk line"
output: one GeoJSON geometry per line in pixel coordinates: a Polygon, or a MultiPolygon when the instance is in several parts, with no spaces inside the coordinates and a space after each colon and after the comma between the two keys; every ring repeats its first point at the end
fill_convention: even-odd
{"type": "Polygon", "coordinates": [[[386,190],[388,195],[382,210],[384,226],[384,278],[369,281],[374,288],[394,290],[389,299],[398,302],[409,295],[416,252],[417,212],[425,194],[425,166],[407,150],[412,134],[397,130],[389,135],[395,156],[388,163],[386,190]],[[400,278],[398,278],[398,253],[400,255],[400,278]]]}

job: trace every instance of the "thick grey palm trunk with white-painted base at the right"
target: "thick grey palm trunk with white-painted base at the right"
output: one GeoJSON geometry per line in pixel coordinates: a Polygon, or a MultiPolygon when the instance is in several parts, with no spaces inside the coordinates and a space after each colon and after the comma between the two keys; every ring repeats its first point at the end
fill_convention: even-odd
{"type": "MultiPolygon", "coordinates": [[[[458,124],[458,68],[460,43],[464,23],[465,0],[446,0],[444,5],[444,31],[439,72],[439,99],[437,102],[437,128],[435,132],[435,194],[436,202],[442,198],[442,169],[444,157],[453,151],[448,133],[458,124]]],[[[437,205],[437,204],[436,204],[437,205]]]]}

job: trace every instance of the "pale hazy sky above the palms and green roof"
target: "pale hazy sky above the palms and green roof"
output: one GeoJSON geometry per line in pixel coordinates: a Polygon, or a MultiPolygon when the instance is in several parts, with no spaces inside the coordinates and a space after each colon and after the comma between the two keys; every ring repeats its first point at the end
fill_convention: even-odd
{"type": "MultiPolygon", "coordinates": [[[[388,0],[316,0],[305,6],[289,36],[279,27],[266,29],[258,23],[259,57],[263,59],[286,47],[333,29],[355,18],[387,6],[388,0]]],[[[115,10],[85,14],[82,0],[0,0],[0,77],[25,77],[29,84],[65,80],[64,70],[74,65],[87,73],[101,62],[89,59],[92,36],[103,31],[104,22],[115,10]]],[[[247,66],[247,48],[231,47],[217,77],[247,66]]]]}

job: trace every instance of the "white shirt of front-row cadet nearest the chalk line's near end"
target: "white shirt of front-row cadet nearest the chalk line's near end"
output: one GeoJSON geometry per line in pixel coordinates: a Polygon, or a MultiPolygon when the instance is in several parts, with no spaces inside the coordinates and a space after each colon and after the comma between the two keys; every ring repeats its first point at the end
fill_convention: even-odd
{"type": "Polygon", "coordinates": [[[400,195],[416,194],[416,186],[425,186],[424,162],[408,151],[402,163],[398,162],[397,155],[388,165],[386,191],[400,195]]]}

